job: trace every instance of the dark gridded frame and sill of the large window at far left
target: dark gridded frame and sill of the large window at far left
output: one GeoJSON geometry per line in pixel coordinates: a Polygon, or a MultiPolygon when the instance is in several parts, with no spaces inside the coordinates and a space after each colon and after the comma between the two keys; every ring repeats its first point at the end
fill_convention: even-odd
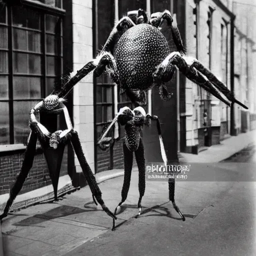
{"type": "MultiPolygon", "coordinates": [[[[24,145],[22,143],[16,142],[15,143],[15,138],[14,138],[14,102],[20,102],[20,101],[40,101],[43,98],[45,98],[46,96],[46,88],[47,88],[47,83],[46,80],[47,78],[56,78],[59,75],[61,75],[62,71],[63,71],[63,22],[64,22],[64,17],[65,17],[65,10],[58,8],[58,7],[52,7],[43,3],[38,3],[38,2],[34,2],[31,0],[22,0],[22,7],[28,9],[28,10],[35,10],[37,12],[39,12],[40,15],[40,24],[39,24],[39,29],[30,29],[28,27],[24,27],[22,29],[24,29],[25,31],[37,31],[38,33],[40,33],[40,52],[30,52],[28,49],[26,49],[25,51],[23,51],[23,53],[25,54],[36,54],[36,55],[40,55],[41,59],[39,61],[39,65],[40,65],[40,74],[34,74],[34,73],[29,73],[27,70],[27,73],[15,73],[14,74],[14,59],[13,59],[13,53],[14,52],[21,52],[22,50],[19,49],[14,49],[13,47],[13,31],[14,29],[18,28],[17,26],[13,25],[13,16],[12,16],[12,8],[14,6],[16,6],[15,4],[5,4],[6,8],[6,17],[5,17],[5,24],[1,23],[2,27],[6,27],[6,36],[7,36],[7,47],[6,49],[1,49],[7,52],[7,67],[8,67],[8,72],[6,73],[1,73],[2,75],[6,75],[7,76],[7,80],[8,80],[8,92],[7,92],[7,98],[6,99],[0,99],[0,102],[8,102],[8,117],[9,117],[9,134],[8,134],[8,139],[9,139],[9,143],[8,144],[4,144],[4,145],[0,145],[0,149],[3,148],[3,150],[8,150],[8,146],[9,147],[13,147],[13,145],[15,148],[18,147],[24,147],[24,145]],[[59,22],[59,29],[60,29],[60,33],[59,33],[59,41],[57,42],[57,52],[49,53],[46,52],[46,36],[47,34],[53,34],[55,35],[54,32],[49,32],[46,31],[46,15],[53,15],[56,16],[59,20],[57,22],[59,22]],[[59,52],[59,54],[58,54],[59,52]],[[57,59],[57,63],[54,62],[54,68],[58,68],[58,72],[55,72],[54,75],[51,74],[47,74],[47,67],[46,67],[46,57],[47,56],[53,56],[55,58],[54,61],[56,61],[57,59]],[[34,97],[34,98],[15,98],[14,99],[14,95],[13,95],[13,77],[17,76],[17,77],[41,77],[42,81],[41,81],[41,86],[40,86],[40,97],[34,97]]],[[[63,3],[61,1],[61,6],[63,6],[63,3]]],[[[26,36],[27,36],[27,32],[26,32],[26,36]]],[[[26,42],[26,47],[28,46],[28,42],[26,42]]],[[[55,40],[54,40],[54,47],[55,47],[55,40]]],[[[28,59],[28,56],[27,56],[28,59]]],[[[28,67],[27,67],[28,68],[28,67]]],[[[27,113],[28,115],[29,113],[27,113]]],[[[27,120],[28,122],[28,120],[27,120]]]]}

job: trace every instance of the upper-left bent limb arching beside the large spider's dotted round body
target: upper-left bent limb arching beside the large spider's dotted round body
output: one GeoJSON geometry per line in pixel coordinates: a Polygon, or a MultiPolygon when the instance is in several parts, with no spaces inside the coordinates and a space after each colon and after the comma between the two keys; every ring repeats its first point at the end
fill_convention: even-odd
{"type": "Polygon", "coordinates": [[[113,27],[112,31],[110,32],[101,52],[109,51],[113,53],[114,45],[121,37],[121,35],[130,27],[134,26],[134,22],[127,16],[122,17],[113,27]]]}

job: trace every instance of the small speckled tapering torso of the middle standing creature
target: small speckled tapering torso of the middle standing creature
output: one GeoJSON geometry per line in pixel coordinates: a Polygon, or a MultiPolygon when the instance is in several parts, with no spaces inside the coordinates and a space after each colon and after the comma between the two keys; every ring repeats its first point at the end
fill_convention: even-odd
{"type": "Polygon", "coordinates": [[[124,127],[124,140],[125,144],[130,151],[135,151],[139,145],[140,128],[136,125],[126,124],[124,127]]]}

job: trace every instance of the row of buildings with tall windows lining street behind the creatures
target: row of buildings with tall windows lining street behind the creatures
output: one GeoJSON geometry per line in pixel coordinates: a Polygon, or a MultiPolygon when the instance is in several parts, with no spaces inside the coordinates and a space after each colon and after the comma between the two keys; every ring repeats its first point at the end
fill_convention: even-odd
{"type": "MultiPolygon", "coordinates": [[[[177,72],[168,83],[174,97],[162,102],[153,89],[145,109],[161,117],[169,160],[177,159],[177,150],[197,153],[205,146],[219,143],[228,134],[255,127],[255,34],[253,22],[249,22],[252,16],[245,15],[248,9],[242,12],[238,3],[227,0],[22,0],[21,5],[16,5],[19,1],[4,2],[8,4],[0,1],[0,194],[9,191],[20,170],[30,108],[51,92],[54,80],[62,73],[76,71],[94,57],[114,20],[128,10],[141,7],[152,13],[169,9],[176,18],[187,54],[198,57],[249,106],[249,111],[244,111],[234,105],[230,113],[229,107],[177,72]]],[[[165,35],[171,41],[168,31],[165,35]]],[[[171,48],[175,50],[173,44],[171,48]]],[[[86,76],[68,97],[74,128],[94,173],[123,166],[122,140],[106,152],[97,148],[96,141],[104,125],[124,105],[132,106],[106,76],[86,76]]],[[[60,175],[68,173],[75,179],[80,172],[78,160],[68,145],[60,175]]],[[[22,192],[49,183],[47,166],[38,150],[22,192]]]]}

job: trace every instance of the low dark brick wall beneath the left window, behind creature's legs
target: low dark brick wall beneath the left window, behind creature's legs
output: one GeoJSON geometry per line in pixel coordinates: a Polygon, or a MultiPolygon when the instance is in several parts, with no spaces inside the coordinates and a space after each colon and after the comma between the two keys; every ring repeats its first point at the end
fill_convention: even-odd
{"type": "MultiPolygon", "coordinates": [[[[0,157],[0,194],[9,192],[13,186],[17,174],[20,171],[24,153],[14,153],[0,157]]],[[[60,176],[67,174],[67,147],[65,148],[60,176]]],[[[28,176],[19,194],[28,192],[45,185],[51,184],[48,167],[42,153],[34,156],[33,166],[28,172],[28,176]]]]}

